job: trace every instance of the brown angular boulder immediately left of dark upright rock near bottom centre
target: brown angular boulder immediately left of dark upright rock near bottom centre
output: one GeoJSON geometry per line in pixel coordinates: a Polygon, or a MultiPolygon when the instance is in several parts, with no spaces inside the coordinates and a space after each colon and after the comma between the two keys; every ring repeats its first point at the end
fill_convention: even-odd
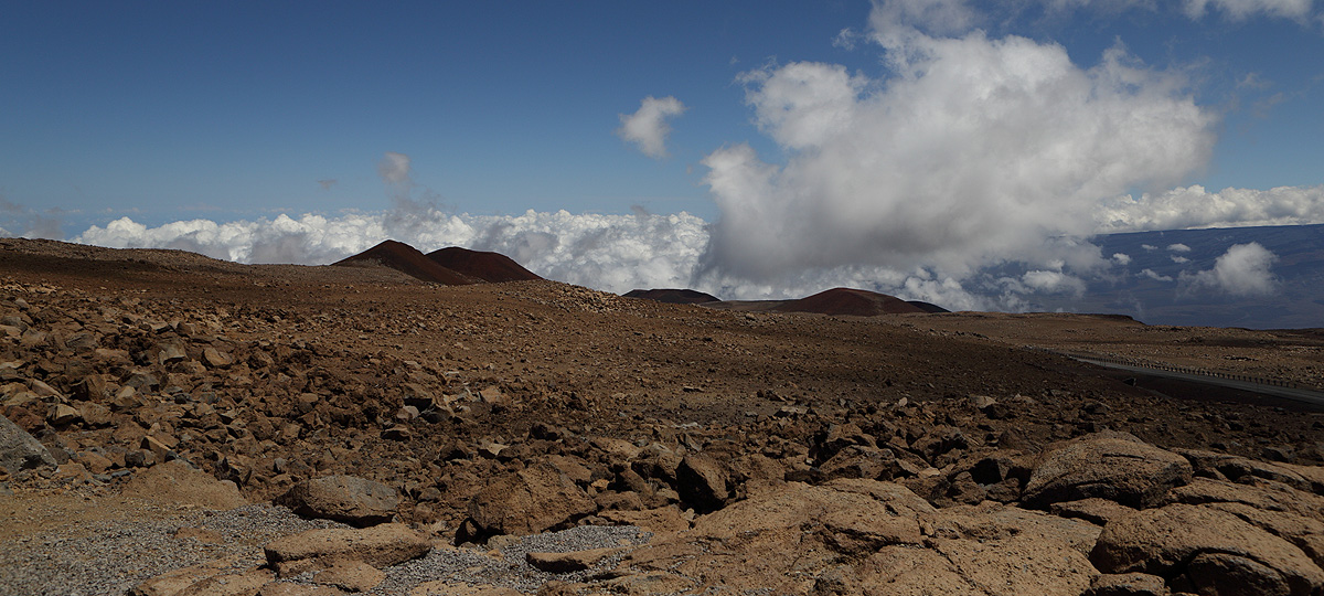
{"type": "Polygon", "coordinates": [[[597,510],[555,466],[539,462],[493,482],[469,502],[481,534],[538,534],[568,526],[597,510]]]}

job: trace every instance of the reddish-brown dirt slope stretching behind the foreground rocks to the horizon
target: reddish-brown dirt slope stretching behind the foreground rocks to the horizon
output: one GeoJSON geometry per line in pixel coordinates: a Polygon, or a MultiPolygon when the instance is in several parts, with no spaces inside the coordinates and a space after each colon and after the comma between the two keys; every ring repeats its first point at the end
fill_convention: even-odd
{"type": "MultiPolygon", "coordinates": [[[[193,322],[201,330],[195,339],[275,356],[274,368],[249,375],[250,389],[222,392],[238,405],[244,391],[271,391],[281,376],[301,391],[347,396],[354,404],[344,405],[348,413],[318,419],[323,428],[306,428],[298,440],[254,448],[204,436],[179,448],[217,477],[244,466],[237,456],[252,458],[242,490],[257,499],[275,494],[301,470],[371,470],[420,503],[434,482],[448,497],[418,515],[458,524],[473,485],[508,462],[461,468],[438,453],[471,450],[483,441],[518,452],[530,448],[520,442],[539,424],[581,436],[764,453],[773,453],[769,445],[777,441],[812,444],[843,421],[886,424],[914,437],[952,426],[973,444],[993,446],[1043,445],[1108,428],[1164,448],[1255,458],[1272,448],[1300,464],[1324,461],[1319,412],[1223,401],[1217,393],[1173,399],[1030,350],[1121,355],[1317,385],[1324,372],[1319,330],[1178,328],[1064,314],[719,311],[549,281],[438,286],[372,266],[245,266],[181,252],[21,240],[0,240],[0,294],[24,299],[56,327],[99,324],[106,338],[126,346],[148,348],[151,338],[130,334],[143,323],[124,323],[122,311],[146,313],[146,323],[175,323],[172,328],[193,322]],[[111,335],[117,328],[119,335],[111,335]],[[445,395],[489,389],[502,399],[420,419],[406,441],[379,438],[393,428],[410,383],[445,395]],[[972,405],[981,399],[1012,412],[984,416],[972,405]]],[[[74,373],[42,368],[41,358],[17,342],[0,348],[0,360],[49,368],[48,383],[73,392],[79,381],[74,373]]],[[[195,393],[200,384],[195,379],[195,393]]],[[[46,442],[61,437],[77,452],[109,441],[111,430],[74,425],[44,432],[46,442]]]]}

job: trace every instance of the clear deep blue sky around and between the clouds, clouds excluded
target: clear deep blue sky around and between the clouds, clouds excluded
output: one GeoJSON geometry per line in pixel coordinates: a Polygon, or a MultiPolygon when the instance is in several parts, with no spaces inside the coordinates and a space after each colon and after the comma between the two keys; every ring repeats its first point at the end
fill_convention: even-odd
{"type": "MultiPolygon", "coordinates": [[[[459,211],[643,204],[712,219],[707,152],[752,142],[777,159],[737,74],[818,61],[880,75],[875,48],[834,45],[842,29],[866,29],[869,12],[846,1],[11,3],[0,193],[81,221],[373,209],[385,205],[376,162],[396,151],[459,211]],[[662,162],[613,135],[647,95],[687,107],[662,162]]],[[[1305,23],[1043,13],[984,25],[1062,44],[1080,65],[1120,40],[1149,65],[1192,73],[1198,101],[1226,121],[1186,181],[1324,181],[1317,8],[1305,23]]]]}

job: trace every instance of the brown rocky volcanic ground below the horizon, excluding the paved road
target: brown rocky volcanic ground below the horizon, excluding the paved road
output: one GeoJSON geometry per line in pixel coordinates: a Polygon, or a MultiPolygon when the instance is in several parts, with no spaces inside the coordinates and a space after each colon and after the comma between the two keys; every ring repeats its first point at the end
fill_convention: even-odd
{"type": "Polygon", "coordinates": [[[1324,593],[1324,416],[1035,347],[1324,359],[0,240],[0,592],[1324,593]]]}

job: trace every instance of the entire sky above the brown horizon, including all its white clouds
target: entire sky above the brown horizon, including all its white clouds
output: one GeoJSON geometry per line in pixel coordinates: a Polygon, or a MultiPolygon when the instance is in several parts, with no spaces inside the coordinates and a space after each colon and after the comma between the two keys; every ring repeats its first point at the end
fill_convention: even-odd
{"type": "Polygon", "coordinates": [[[1324,223],[1315,0],[3,13],[5,234],[308,264],[393,237],[613,291],[1016,307],[963,282],[1083,286],[1098,233],[1324,223]]]}

